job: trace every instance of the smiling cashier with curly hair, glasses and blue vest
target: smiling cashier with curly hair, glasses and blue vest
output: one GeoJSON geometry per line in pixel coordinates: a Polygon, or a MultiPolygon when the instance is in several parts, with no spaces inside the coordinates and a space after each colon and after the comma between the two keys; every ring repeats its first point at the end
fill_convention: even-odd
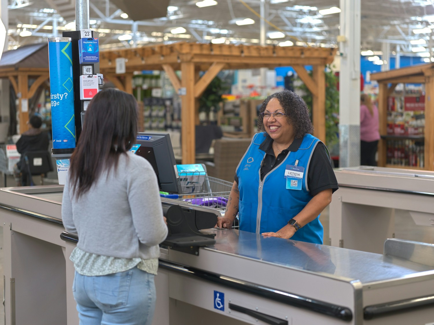
{"type": "Polygon", "coordinates": [[[238,164],[218,227],[322,244],[319,214],[338,189],[325,145],[312,135],[306,103],[283,90],[266,98],[258,129],[238,164]]]}

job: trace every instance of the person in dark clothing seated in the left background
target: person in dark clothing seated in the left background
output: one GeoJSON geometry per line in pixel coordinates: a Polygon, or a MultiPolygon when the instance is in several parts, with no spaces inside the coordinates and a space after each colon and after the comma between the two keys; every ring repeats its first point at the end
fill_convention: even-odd
{"type": "Polygon", "coordinates": [[[45,131],[41,130],[42,119],[38,115],[32,115],[29,119],[30,129],[23,132],[21,137],[16,142],[16,150],[21,154],[20,161],[14,167],[14,176],[17,186],[26,186],[28,181],[28,173],[24,154],[27,151],[43,151],[48,150],[49,138],[45,131]]]}

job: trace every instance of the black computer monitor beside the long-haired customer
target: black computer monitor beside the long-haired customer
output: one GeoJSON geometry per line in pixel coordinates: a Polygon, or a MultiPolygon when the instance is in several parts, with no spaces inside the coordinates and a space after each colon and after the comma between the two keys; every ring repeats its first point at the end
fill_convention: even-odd
{"type": "Polygon", "coordinates": [[[167,133],[139,132],[131,151],[151,163],[161,191],[182,194],[172,142],[167,133]]]}

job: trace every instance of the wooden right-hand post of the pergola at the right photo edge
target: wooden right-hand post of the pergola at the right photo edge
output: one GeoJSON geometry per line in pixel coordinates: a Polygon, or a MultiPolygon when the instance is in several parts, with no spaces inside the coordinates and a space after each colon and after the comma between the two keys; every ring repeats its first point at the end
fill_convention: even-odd
{"type": "Polygon", "coordinates": [[[434,76],[427,76],[425,92],[424,169],[434,171],[434,76]]]}

